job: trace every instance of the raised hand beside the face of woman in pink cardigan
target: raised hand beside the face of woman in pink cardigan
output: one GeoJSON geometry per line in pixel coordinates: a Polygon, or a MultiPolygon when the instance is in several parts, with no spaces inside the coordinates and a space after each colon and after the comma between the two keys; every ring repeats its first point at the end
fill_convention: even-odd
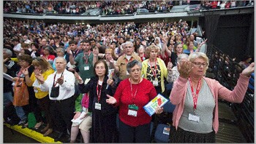
{"type": "Polygon", "coordinates": [[[192,71],[192,63],[189,60],[182,60],[177,64],[177,68],[180,76],[187,79],[192,71]]]}

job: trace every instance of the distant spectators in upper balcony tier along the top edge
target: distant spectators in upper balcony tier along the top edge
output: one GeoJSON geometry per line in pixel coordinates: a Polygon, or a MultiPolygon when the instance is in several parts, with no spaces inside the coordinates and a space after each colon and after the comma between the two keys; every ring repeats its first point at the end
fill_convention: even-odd
{"type": "MultiPolygon", "coordinates": [[[[149,12],[170,12],[173,6],[190,4],[184,1],[4,1],[4,12],[58,13],[81,15],[88,9],[100,9],[101,15],[132,14],[138,8],[149,12]]],[[[200,1],[200,9],[228,9],[253,5],[253,1],[200,1]]]]}

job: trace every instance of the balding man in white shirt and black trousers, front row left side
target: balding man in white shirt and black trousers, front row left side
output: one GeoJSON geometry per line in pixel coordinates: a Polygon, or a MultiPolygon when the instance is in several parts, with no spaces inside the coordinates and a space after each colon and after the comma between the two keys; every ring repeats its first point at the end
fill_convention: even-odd
{"type": "Polygon", "coordinates": [[[66,70],[66,66],[67,61],[64,57],[57,57],[55,73],[50,74],[46,80],[42,74],[36,75],[37,81],[41,84],[40,89],[49,92],[50,113],[56,129],[60,132],[55,141],[59,141],[67,129],[71,132],[74,112],[75,76],[66,70]]]}

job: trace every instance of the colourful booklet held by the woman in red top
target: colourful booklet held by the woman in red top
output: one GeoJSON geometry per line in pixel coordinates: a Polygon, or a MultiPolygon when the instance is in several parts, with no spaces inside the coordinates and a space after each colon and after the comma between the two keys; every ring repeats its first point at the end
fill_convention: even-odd
{"type": "Polygon", "coordinates": [[[156,113],[157,106],[162,107],[168,101],[169,100],[167,100],[167,98],[165,98],[161,94],[158,94],[156,97],[154,97],[153,100],[143,106],[143,108],[149,116],[152,116],[154,113],[156,113]]]}

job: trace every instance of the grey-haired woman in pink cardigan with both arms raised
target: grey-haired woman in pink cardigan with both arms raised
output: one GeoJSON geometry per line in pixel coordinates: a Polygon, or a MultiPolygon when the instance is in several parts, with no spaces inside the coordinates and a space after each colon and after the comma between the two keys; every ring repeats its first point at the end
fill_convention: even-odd
{"type": "Polygon", "coordinates": [[[206,78],[208,57],[193,52],[188,60],[178,63],[180,75],[173,84],[170,102],[176,105],[170,143],[215,143],[219,128],[218,99],[241,103],[255,69],[252,63],[240,74],[236,87],[230,91],[218,81],[206,78]]]}

